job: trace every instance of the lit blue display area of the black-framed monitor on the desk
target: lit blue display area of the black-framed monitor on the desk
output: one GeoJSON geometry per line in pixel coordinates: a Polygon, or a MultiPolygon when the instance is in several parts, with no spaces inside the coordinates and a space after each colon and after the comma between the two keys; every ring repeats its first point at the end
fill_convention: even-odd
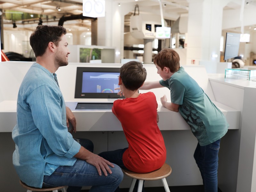
{"type": "Polygon", "coordinates": [[[83,93],[117,93],[118,72],[83,72],[83,93]]]}

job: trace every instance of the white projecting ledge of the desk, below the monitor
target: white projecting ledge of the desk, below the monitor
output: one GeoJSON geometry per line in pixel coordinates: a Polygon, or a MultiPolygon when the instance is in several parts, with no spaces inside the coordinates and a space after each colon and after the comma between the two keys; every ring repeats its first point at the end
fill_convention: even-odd
{"type": "MultiPolygon", "coordinates": [[[[190,130],[188,124],[180,113],[164,108],[157,101],[157,113],[159,115],[160,130],[190,130]]],[[[122,126],[112,110],[76,110],[77,102],[67,101],[66,106],[71,109],[76,117],[77,131],[122,131],[122,126]]],[[[229,129],[239,129],[240,111],[229,108],[221,103],[215,102],[220,111],[227,117],[230,124],[229,129]]],[[[2,101],[0,103],[0,132],[12,132],[16,124],[17,101],[2,101]]]]}

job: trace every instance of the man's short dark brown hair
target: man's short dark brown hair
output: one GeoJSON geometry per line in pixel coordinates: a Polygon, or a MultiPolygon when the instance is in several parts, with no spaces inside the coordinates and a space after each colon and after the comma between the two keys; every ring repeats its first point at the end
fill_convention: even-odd
{"type": "Polygon", "coordinates": [[[49,42],[58,46],[61,40],[60,37],[63,34],[66,35],[66,33],[66,29],[62,26],[38,25],[29,38],[35,56],[42,56],[45,53],[49,42]]]}

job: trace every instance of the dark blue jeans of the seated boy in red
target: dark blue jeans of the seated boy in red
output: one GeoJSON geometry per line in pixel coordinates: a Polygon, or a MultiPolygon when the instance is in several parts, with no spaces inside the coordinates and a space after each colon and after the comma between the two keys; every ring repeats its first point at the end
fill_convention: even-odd
{"type": "MultiPolygon", "coordinates": [[[[104,159],[107,159],[111,163],[117,164],[118,166],[120,166],[123,169],[127,169],[124,166],[124,162],[123,162],[123,154],[126,149],[128,149],[128,148],[117,149],[114,151],[105,151],[105,152],[100,153],[99,156],[103,157],[104,159]]],[[[137,192],[138,184],[139,184],[139,180],[136,180],[135,186],[133,188],[133,192],[137,192]]],[[[115,192],[120,192],[119,187],[116,188],[115,192]]],[[[143,186],[142,186],[142,192],[145,192],[144,181],[143,181],[143,186]]]]}

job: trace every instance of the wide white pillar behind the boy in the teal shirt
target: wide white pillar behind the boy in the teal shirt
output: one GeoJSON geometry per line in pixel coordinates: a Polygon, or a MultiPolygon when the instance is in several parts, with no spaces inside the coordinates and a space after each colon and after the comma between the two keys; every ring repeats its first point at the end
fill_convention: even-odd
{"type": "Polygon", "coordinates": [[[188,0],[187,62],[220,61],[223,7],[230,0],[188,0]],[[212,58],[217,54],[217,58],[212,58]]]}

